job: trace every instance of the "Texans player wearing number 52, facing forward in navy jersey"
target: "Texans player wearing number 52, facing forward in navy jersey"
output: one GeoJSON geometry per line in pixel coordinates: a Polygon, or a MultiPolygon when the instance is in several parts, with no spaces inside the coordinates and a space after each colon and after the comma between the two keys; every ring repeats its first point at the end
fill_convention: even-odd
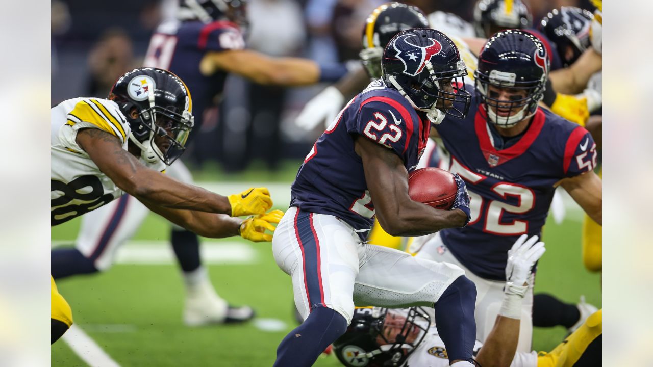
{"type": "MultiPolygon", "coordinates": [[[[545,47],[524,31],[490,37],[479,55],[470,114],[438,125],[449,170],[468,184],[471,221],[416,238],[418,258],[458,264],[476,284],[478,339],[500,310],[506,251],[522,234],[541,236],[558,185],[601,223],[596,144],[588,131],[539,108],[549,65],[545,47]]],[[[532,283],[524,298],[518,351],[530,351],[532,283]]]]}

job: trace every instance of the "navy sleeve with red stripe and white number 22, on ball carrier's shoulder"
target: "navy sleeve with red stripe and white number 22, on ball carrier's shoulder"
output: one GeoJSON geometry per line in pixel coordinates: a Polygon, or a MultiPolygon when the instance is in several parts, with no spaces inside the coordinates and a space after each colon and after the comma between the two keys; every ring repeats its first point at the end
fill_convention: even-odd
{"type": "Polygon", "coordinates": [[[360,105],[358,118],[350,121],[347,131],[359,134],[392,149],[404,161],[410,144],[417,150],[415,123],[407,108],[389,97],[371,97],[360,105]],[[413,137],[415,135],[415,137],[413,137]]]}

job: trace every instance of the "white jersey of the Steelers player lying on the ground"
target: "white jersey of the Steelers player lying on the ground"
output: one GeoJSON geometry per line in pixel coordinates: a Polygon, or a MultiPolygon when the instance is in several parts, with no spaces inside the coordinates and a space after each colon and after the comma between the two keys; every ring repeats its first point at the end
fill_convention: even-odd
{"type": "MultiPolygon", "coordinates": [[[[479,353],[483,346],[481,341],[474,343],[474,355],[479,353]]],[[[419,344],[417,349],[408,357],[403,367],[449,367],[449,356],[445,343],[438,335],[436,327],[430,327],[428,334],[419,344]]],[[[515,359],[510,367],[537,367],[537,353],[515,353],[515,359]]]]}

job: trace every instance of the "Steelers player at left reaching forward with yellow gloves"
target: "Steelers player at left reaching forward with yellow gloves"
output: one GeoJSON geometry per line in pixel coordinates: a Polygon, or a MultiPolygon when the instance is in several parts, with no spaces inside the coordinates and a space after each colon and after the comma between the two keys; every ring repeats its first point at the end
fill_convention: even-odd
{"type": "MultiPolygon", "coordinates": [[[[171,72],[139,68],[121,76],[108,99],[75,98],[51,112],[52,225],[129,193],[153,212],[202,236],[269,241],[283,212],[268,189],[223,197],[161,172],[178,159],[193,128],[193,101],[171,72]],[[242,215],[256,215],[239,219],[242,215]]],[[[52,340],[72,323],[52,281],[52,340]],[[56,301],[56,302],[54,302],[56,301]],[[63,316],[62,316],[63,315],[63,316]],[[56,323],[59,321],[59,323],[56,323]],[[63,323],[63,325],[61,325],[63,323]]],[[[63,332],[62,332],[63,331],[63,332]]]]}

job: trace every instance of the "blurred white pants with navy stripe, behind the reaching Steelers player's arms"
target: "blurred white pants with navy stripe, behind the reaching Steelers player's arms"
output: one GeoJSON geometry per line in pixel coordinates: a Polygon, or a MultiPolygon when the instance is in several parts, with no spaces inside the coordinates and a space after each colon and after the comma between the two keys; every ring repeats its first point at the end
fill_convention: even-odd
{"type": "MultiPolygon", "coordinates": [[[[166,168],[166,174],[185,183],[193,183],[191,172],[179,159],[166,168]]],[[[114,263],[116,251],[132,238],[150,210],[131,195],[82,215],[82,225],[75,247],[93,261],[95,268],[107,270],[114,263]]],[[[176,229],[181,229],[173,225],[176,229]]]]}

